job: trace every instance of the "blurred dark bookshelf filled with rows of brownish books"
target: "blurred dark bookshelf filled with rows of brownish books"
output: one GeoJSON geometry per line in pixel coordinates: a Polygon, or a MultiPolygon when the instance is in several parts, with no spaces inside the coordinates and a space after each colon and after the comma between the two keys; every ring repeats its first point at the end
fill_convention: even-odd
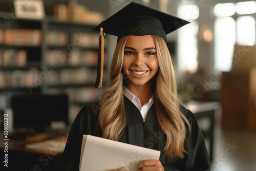
{"type": "Polygon", "coordinates": [[[14,94],[65,93],[70,121],[83,105],[97,99],[95,90],[99,35],[94,25],[15,19],[0,13],[0,111],[14,94]]]}

